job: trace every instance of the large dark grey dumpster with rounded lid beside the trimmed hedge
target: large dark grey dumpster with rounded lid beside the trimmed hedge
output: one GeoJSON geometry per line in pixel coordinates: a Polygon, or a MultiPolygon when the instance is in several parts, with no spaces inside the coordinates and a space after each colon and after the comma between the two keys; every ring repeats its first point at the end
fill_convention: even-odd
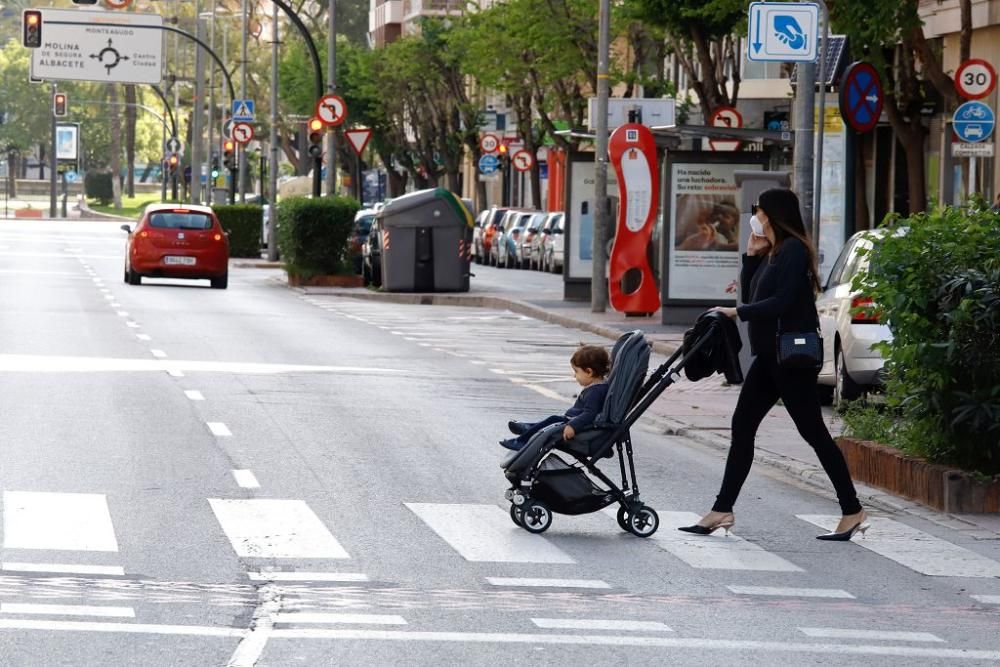
{"type": "Polygon", "coordinates": [[[472,213],[444,188],[393,199],[378,213],[382,288],[388,292],[468,292],[472,213]]]}

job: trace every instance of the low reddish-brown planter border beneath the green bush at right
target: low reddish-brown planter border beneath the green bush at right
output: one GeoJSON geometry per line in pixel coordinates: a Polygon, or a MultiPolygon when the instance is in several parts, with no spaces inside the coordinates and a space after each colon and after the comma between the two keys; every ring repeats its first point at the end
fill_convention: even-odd
{"type": "Polygon", "coordinates": [[[1000,513],[1000,475],[983,480],[868,440],[837,439],[855,481],[953,514],[1000,513]]]}

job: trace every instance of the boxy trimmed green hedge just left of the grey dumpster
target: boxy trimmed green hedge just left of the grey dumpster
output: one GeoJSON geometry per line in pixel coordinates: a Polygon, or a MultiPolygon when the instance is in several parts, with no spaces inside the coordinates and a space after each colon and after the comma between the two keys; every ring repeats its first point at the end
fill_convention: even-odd
{"type": "Polygon", "coordinates": [[[360,208],[350,197],[283,199],[278,206],[278,249],[288,274],[353,274],[348,245],[360,208]]]}

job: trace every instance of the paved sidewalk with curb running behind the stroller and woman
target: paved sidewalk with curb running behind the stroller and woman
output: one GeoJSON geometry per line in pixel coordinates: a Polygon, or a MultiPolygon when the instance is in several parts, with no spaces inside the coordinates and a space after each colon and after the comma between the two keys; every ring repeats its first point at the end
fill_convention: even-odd
{"type": "MultiPolygon", "coordinates": [[[[661,324],[660,314],[653,317],[626,317],[611,310],[591,312],[589,303],[562,300],[562,276],[537,272],[501,270],[476,265],[476,277],[467,293],[387,293],[366,288],[304,287],[307,294],[369,299],[393,303],[425,305],[461,305],[507,309],[538,320],[581,329],[614,340],[626,331],[641,329],[652,342],[653,351],[664,357],[680,345],[687,327],[661,324]]],[[[662,363],[665,359],[655,359],[662,363]]],[[[725,451],[729,448],[729,424],[739,387],[728,386],[719,375],[700,382],[682,378],[665,391],[646,415],[655,420],[664,433],[678,435],[703,445],[725,451]]],[[[824,420],[830,432],[842,431],[839,417],[824,408],[824,420]]],[[[780,407],[771,411],[757,436],[756,462],[781,470],[833,498],[826,473],[812,448],[802,440],[791,418],[780,407]]],[[[721,467],[720,467],[721,474],[721,467]]],[[[1000,539],[1000,515],[943,514],[905,498],[858,484],[862,502],[891,512],[906,512],[976,539],[1000,539]]],[[[708,499],[706,498],[706,502],[708,499]]]]}

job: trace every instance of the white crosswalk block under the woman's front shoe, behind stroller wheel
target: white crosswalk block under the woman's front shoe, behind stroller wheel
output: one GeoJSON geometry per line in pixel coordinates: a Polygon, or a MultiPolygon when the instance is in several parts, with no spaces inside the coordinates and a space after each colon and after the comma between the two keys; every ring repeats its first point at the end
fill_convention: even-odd
{"type": "MultiPolygon", "coordinates": [[[[614,516],[616,509],[605,510],[614,516]]],[[[765,572],[801,572],[802,568],[736,535],[726,535],[720,528],[712,535],[683,533],[679,526],[690,526],[700,518],[693,512],[660,512],[660,529],[650,538],[656,544],[691,567],[706,570],[758,570],[765,572]]]]}

